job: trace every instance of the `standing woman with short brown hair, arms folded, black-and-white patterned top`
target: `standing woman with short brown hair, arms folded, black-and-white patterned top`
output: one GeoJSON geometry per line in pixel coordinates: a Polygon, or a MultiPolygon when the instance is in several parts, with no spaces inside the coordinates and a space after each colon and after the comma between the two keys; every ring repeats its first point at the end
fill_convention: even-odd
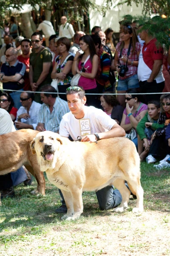
{"type": "Polygon", "coordinates": [[[59,96],[61,99],[66,100],[65,90],[70,86],[70,82],[73,77],[71,68],[74,56],[68,52],[71,47],[71,43],[68,38],[59,38],[57,41],[57,46],[60,52],[60,56],[56,59],[56,63],[51,73],[51,78],[57,79],[58,92],[64,93],[59,94],[59,96]]]}

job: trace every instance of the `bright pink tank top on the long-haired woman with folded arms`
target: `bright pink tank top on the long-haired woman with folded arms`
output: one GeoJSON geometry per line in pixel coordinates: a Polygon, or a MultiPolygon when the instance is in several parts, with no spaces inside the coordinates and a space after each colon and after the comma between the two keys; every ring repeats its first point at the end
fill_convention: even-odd
{"type": "MultiPolygon", "coordinates": [[[[79,65],[78,65],[79,70],[82,69],[81,64],[82,64],[82,61],[80,60],[79,65]]],[[[85,68],[85,73],[91,73],[92,63],[91,63],[90,58],[85,63],[84,68],[85,68]]],[[[90,89],[94,89],[94,88],[97,87],[95,79],[87,78],[87,77],[84,77],[84,76],[80,77],[78,85],[82,86],[84,90],[90,90],[90,89]]]]}

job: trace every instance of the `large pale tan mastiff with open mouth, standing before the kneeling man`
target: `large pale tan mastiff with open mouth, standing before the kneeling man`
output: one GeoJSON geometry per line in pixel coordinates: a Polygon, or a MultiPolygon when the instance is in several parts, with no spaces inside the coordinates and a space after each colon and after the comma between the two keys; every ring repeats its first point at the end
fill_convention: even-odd
{"type": "Polygon", "coordinates": [[[62,191],[68,208],[62,218],[79,218],[83,212],[82,191],[99,190],[112,184],[122,195],[122,203],[113,211],[125,211],[130,197],[125,180],[137,197],[133,212],[143,211],[139,154],[135,144],[125,137],[82,143],[43,131],[32,141],[31,150],[37,154],[41,171],[62,191]]]}

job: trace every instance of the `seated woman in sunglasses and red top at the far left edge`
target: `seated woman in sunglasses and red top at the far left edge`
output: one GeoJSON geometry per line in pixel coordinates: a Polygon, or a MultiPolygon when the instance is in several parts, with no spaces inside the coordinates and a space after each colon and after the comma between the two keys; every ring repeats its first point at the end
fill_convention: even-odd
{"type": "Polygon", "coordinates": [[[0,95],[0,108],[5,109],[11,116],[14,122],[17,117],[17,108],[14,108],[14,101],[8,93],[2,93],[0,95]]]}

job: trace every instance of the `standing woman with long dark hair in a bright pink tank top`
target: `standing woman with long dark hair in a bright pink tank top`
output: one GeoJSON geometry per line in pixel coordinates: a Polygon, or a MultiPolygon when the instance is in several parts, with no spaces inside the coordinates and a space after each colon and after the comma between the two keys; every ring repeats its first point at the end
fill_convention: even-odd
{"type": "MultiPolygon", "coordinates": [[[[83,35],[79,39],[80,49],[83,51],[76,52],[74,57],[72,73],[75,76],[80,74],[78,86],[83,87],[85,93],[98,93],[96,85],[96,74],[99,66],[96,48],[90,35],[83,35]]],[[[87,95],[87,104],[98,107],[99,101],[96,95],[87,95]]]]}

